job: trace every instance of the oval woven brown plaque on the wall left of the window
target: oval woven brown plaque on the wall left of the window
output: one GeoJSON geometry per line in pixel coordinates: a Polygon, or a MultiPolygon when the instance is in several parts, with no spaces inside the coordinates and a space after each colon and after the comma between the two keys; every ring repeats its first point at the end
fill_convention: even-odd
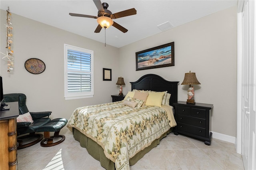
{"type": "Polygon", "coordinates": [[[45,70],[45,64],[42,60],[37,58],[30,58],[25,61],[25,69],[32,74],[40,74],[45,70]]]}

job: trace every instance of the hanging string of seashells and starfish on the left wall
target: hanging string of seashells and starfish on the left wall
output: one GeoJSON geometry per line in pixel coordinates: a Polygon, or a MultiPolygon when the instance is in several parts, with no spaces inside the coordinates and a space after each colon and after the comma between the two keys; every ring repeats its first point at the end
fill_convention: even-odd
{"type": "Polygon", "coordinates": [[[2,57],[2,59],[6,58],[7,59],[7,71],[10,72],[11,70],[13,70],[13,67],[14,67],[14,63],[13,63],[13,60],[14,60],[14,57],[13,57],[13,50],[12,50],[12,22],[11,22],[11,13],[10,13],[10,10],[9,10],[9,7],[8,7],[8,10],[6,10],[7,12],[7,17],[6,17],[6,54],[5,53],[2,53],[3,55],[5,55],[4,57],[2,57]]]}

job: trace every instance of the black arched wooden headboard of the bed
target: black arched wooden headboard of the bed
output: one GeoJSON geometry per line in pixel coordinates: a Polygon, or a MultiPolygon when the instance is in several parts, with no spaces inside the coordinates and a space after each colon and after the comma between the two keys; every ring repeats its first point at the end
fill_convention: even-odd
{"type": "Polygon", "coordinates": [[[167,81],[159,75],[147,74],[140,77],[137,81],[130,82],[132,90],[151,90],[168,91],[171,94],[170,105],[178,101],[178,83],[179,81],[167,81]]]}

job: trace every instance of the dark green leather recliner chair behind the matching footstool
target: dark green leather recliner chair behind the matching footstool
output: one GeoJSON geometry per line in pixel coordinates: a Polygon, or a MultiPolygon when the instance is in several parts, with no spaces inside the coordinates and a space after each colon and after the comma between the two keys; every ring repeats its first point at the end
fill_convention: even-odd
{"type": "MultiPolygon", "coordinates": [[[[29,112],[26,106],[26,95],[22,93],[4,94],[4,102],[16,102],[16,101],[18,101],[19,103],[19,115],[29,112]]],[[[32,116],[32,119],[33,119],[33,123],[17,122],[17,136],[18,136],[17,141],[19,143],[18,149],[32,146],[43,139],[44,135],[40,133],[36,133],[36,129],[38,129],[39,127],[42,127],[43,125],[46,125],[48,122],[51,121],[51,119],[49,118],[51,113],[52,113],[51,111],[30,112],[30,115],[32,116]],[[26,133],[29,133],[29,134],[25,136],[20,136],[26,133]],[[30,138],[30,137],[34,137],[34,138],[36,137],[36,139],[33,140],[32,142],[28,142],[25,144],[22,143],[25,138],[30,138]]]]}

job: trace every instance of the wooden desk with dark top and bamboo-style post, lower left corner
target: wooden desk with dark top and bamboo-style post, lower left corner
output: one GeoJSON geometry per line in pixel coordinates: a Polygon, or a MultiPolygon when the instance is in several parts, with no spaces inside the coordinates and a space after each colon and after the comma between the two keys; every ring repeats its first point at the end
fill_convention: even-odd
{"type": "Polygon", "coordinates": [[[0,112],[0,170],[17,169],[16,117],[19,116],[18,102],[6,103],[10,110],[0,112]]]}

